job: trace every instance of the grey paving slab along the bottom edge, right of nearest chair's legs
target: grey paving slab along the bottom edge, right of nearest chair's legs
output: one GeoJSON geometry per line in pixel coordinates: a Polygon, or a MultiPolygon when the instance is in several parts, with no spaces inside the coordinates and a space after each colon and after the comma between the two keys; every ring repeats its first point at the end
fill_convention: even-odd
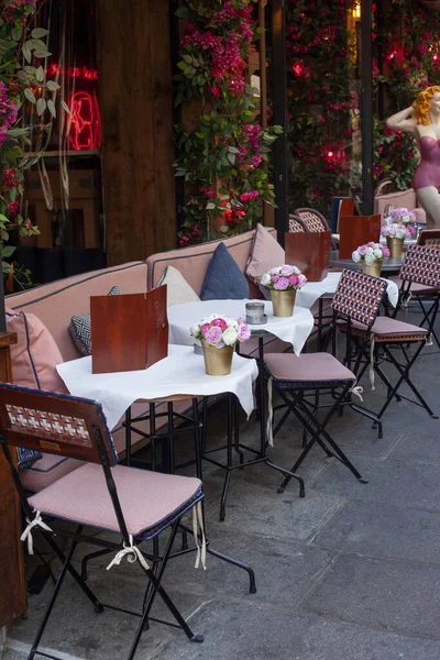
{"type": "Polygon", "coordinates": [[[440,642],[212,601],[193,617],[201,645],[172,634],[150,660],[438,660],[440,642]]]}

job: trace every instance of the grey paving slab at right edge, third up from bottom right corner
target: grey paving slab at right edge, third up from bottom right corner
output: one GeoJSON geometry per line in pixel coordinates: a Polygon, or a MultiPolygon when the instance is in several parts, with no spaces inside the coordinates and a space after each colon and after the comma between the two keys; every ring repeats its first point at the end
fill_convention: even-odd
{"type": "Polygon", "coordinates": [[[440,564],[440,514],[371,502],[349,502],[314,543],[375,557],[440,564]]]}

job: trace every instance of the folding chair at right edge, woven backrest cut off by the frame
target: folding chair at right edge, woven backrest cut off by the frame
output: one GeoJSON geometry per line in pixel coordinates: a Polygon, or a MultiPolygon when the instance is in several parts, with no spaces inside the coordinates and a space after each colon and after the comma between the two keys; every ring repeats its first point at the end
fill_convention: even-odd
{"type": "MultiPolygon", "coordinates": [[[[363,277],[367,276],[364,275],[363,277]]],[[[411,283],[419,283],[427,286],[440,286],[440,250],[435,248],[411,245],[406,253],[405,261],[400,270],[400,277],[404,282],[404,296],[410,290],[411,283]]],[[[370,279],[382,282],[376,277],[370,279]]],[[[367,288],[372,286],[372,283],[366,283],[365,290],[359,292],[360,297],[362,298],[367,293],[367,288]]],[[[375,417],[375,424],[378,428],[380,438],[382,438],[382,424],[380,420],[385,410],[388,408],[393,398],[396,398],[396,400],[400,400],[403,398],[409,400],[410,403],[425,408],[430,417],[437,419],[437,416],[432,413],[427,402],[411,382],[409,372],[424,346],[429,341],[429,336],[432,332],[438,307],[439,296],[437,296],[428,328],[421,328],[419,326],[406,323],[391,317],[377,317],[375,318],[374,323],[369,324],[365,323],[365,321],[355,318],[353,314],[349,316],[349,322],[342,328],[348,333],[346,360],[349,366],[351,365],[352,339],[354,339],[358,343],[358,355],[353,371],[358,375],[359,381],[370,366],[372,387],[374,388],[375,374],[378,375],[378,377],[387,387],[387,398],[377,414],[372,414],[363,408],[353,406],[353,408],[358,409],[360,413],[366,414],[372,418],[375,417]],[[415,346],[417,346],[413,356],[407,353],[406,349],[408,344],[415,344],[415,346]],[[402,349],[402,354],[405,358],[405,362],[403,364],[396,360],[396,356],[392,351],[393,346],[398,346],[402,349]],[[363,360],[363,367],[361,372],[359,372],[363,360]],[[388,362],[396,369],[399,377],[395,385],[392,384],[388,376],[383,371],[383,362],[388,362]],[[409,399],[402,394],[398,394],[398,391],[404,383],[408,385],[417,400],[409,399]]],[[[338,301],[336,301],[336,299],[333,299],[333,309],[338,309],[338,301]]]]}

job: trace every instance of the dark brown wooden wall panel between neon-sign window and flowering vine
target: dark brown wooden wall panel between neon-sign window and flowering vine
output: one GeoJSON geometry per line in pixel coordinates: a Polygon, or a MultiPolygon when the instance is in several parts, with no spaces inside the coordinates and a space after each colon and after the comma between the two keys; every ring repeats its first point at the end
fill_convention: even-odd
{"type": "Polygon", "coordinates": [[[168,2],[97,0],[108,265],[176,245],[168,2]]]}

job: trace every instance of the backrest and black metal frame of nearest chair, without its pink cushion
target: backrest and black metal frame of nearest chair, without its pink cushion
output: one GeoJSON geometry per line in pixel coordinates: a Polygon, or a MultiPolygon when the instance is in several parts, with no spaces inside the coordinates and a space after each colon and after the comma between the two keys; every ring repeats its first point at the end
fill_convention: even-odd
{"type": "MultiPolygon", "coordinates": [[[[47,653],[38,651],[37,649],[67,573],[69,573],[73,576],[73,579],[81,588],[84,594],[91,602],[97,613],[102,613],[105,608],[110,608],[140,617],[140,624],[138,626],[134,640],[132,642],[128,656],[128,660],[132,660],[134,658],[139,642],[141,640],[141,636],[144,629],[147,628],[148,620],[154,620],[161,624],[169,625],[172,627],[182,628],[182,630],[185,632],[185,635],[190,641],[202,641],[202,636],[195,635],[191,631],[188,624],[185,622],[184,617],[174,604],[173,600],[162,586],[162,578],[167,561],[170,557],[172,547],[180,524],[180,519],[184,516],[184,514],[186,514],[189,509],[196,506],[198,502],[201,502],[204,497],[202,491],[200,490],[199,493],[195,495],[191,502],[188,503],[188,506],[185,507],[185,510],[183,510],[182,513],[176,513],[176,516],[172,520],[169,520],[169,522],[164,524],[163,527],[161,526],[158,530],[153,529],[150,532],[140,534],[139,536],[131,539],[122,513],[121,504],[118,497],[117,487],[110,470],[111,465],[114,465],[117,463],[117,455],[112,446],[111,436],[107,428],[107,422],[101,406],[96,402],[91,402],[89,399],[82,399],[65,395],[54,395],[41,391],[33,391],[24,387],[16,387],[13,385],[6,384],[0,385],[0,443],[2,446],[4,457],[9,463],[12,480],[18,491],[20,503],[26,516],[26,519],[29,521],[33,519],[33,509],[29,504],[28,495],[24,492],[23,486],[21,485],[20,476],[14,465],[9,446],[25,447],[28,449],[42,449],[48,453],[58,454],[62,452],[64,455],[68,455],[70,458],[79,458],[80,460],[86,462],[101,464],[106,477],[107,488],[111,497],[114,514],[117,516],[118,526],[123,544],[125,547],[131,547],[132,544],[133,547],[136,547],[139,552],[146,560],[152,561],[154,565],[154,570],[152,570],[150,566],[145,569],[144,565],[141,564],[141,569],[147,579],[147,586],[144,593],[143,607],[141,613],[129,612],[124,608],[117,607],[114,605],[103,604],[98,600],[98,597],[86,584],[81,575],[79,575],[79,573],[73,566],[72,561],[77,546],[80,542],[92,543],[98,547],[105,548],[106,552],[120,551],[121,544],[103,540],[97,537],[86,536],[82,534],[85,525],[78,524],[76,531],[74,532],[57,530],[57,535],[59,537],[67,537],[72,539],[70,547],[68,548],[67,552],[64,553],[59,549],[57,543],[55,543],[52,534],[38,527],[38,532],[42,535],[43,539],[50,546],[53,552],[58,557],[63,566],[56,580],[54,591],[46,606],[43,620],[38,626],[35,639],[31,647],[31,651],[28,657],[29,660],[32,660],[35,657],[35,654],[48,658],[56,658],[55,656],[50,656],[47,653]],[[86,435],[88,439],[87,441],[82,439],[81,442],[75,443],[75,439],[73,439],[72,435],[68,435],[68,431],[66,431],[65,428],[62,428],[61,430],[57,429],[57,432],[42,432],[41,430],[36,431],[35,429],[19,427],[12,424],[10,414],[8,411],[8,406],[16,407],[18,409],[24,409],[25,411],[36,414],[37,416],[48,416],[51,419],[55,420],[61,416],[63,416],[63,418],[73,419],[75,421],[79,420],[84,422],[84,427],[87,428],[86,435]],[[140,543],[142,543],[145,540],[152,540],[153,538],[156,538],[160,534],[162,534],[162,531],[168,528],[169,536],[162,557],[150,554],[139,549],[140,543]],[[156,619],[151,616],[151,609],[157,594],[160,594],[160,596],[164,601],[168,610],[175,618],[176,624],[164,622],[162,619],[156,619]]],[[[51,516],[52,519],[55,516],[51,516]]]]}

